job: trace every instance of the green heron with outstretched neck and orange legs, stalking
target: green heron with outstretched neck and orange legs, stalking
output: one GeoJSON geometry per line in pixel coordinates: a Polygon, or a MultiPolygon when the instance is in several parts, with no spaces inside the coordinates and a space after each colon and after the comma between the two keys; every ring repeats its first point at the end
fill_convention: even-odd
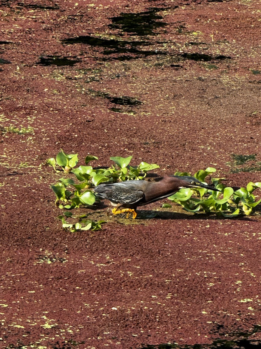
{"type": "Polygon", "coordinates": [[[112,202],[113,214],[132,212],[136,218],[138,206],[165,199],[182,188],[206,188],[219,192],[218,189],[205,185],[198,179],[189,176],[166,176],[160,181],[128,180],[120,183],[100,184],[94,188],[97,197],[112,202]],[[124,207],[123,209],[119,209],[124,207]]]}

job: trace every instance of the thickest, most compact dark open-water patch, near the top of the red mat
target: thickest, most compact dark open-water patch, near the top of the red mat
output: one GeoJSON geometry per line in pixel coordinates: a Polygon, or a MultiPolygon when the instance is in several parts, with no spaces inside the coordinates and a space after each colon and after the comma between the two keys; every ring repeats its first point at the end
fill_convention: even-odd
{"type": "Polygon", "coordinates": [[[160,10],[161,8],[150,8],[148,11],[140,13],[121,13],[120,16],[110,18],[112,24],[109,24],[108,27],[120,29],[129,35],[156,35],[154,30],[164,28],[167,25],[167,23],[162,22],[163,17],[157,14],[160,10]]]}

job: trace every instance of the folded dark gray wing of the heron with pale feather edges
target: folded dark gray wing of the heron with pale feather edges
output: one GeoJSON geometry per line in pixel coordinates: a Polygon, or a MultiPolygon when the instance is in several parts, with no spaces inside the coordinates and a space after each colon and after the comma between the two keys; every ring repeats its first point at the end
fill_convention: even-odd
{"type": "Polygon", "coordinates": [[[144,192],[139,189],[142,188],[137,181],[135,185],[130,182],[100,184],[94,188],[94,191],[100,198],[108,199],[114,203],[121,203],[122,205],[131,205],[144,197],[144,192]]]}

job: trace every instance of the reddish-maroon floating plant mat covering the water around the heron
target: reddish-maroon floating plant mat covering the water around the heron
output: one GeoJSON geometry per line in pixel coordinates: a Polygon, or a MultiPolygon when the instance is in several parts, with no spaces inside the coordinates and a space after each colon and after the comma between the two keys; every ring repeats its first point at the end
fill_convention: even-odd
{"type": "Polygon", "coordinates": [[[166,199],[132,221],[104,201],[78,209],[107,217],[102,230],[69,232],[50,185],[70,174],[45,166],[62,148],[79,165],[132,155],[160,176],[211,166],[226,186],[260,182],[260,11],[1,1],[1,348],[260,348],[260,205],[227,219],[166,199]]]}

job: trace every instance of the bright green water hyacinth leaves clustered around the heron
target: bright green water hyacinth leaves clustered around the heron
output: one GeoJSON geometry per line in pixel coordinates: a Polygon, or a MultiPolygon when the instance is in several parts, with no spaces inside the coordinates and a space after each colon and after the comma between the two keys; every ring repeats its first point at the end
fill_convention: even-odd
{"type": "MultiPolygon", "coordinates": [[[[53,166],[54,170],[71,173],[74,178],[60,178],[59,183],[51,186],[56,195],[56,205],[63,210],[59,216],[63,228],[70,231],[98,230],[104,221],[85,221],[84,224],[68,223],[65,218],[71,218],[72,209],[79,207],[92,207],[98,201],[92,189],[100,183],[115,183],[126,180],[144,180],[147,172],[159,168],[157,164],[141,162],[138,166],[131,166],[132,156],[123,158],[112,156],[113,164],[107,168],[93,168],[90,162],[98,160],[98,157],[88,155],[85,157],[85,165],[78,164],[78,154],[66,154],[63,150],[57,154],[56,159],[50,158],[47,164],[53,166]],[[76,182],[77,180],[77,182],[76,182]]],[[[216,172],[216,169],[208,167],[206,170],[197,171],[193,177],[203,183],[207,176],[216,172]]],[[[178,176],[191,176],[189,172],[176,172],[178,176]]],[[[253,214],[255,207],[261,202],[256,201],[253,191],[261,188],[261,182],[247,184],[246,188],[235,190],[225,187],[221,182],[224,178],[212,177],[211,181],[220,192],[214,192],[205,188],[183,188],[168,199],[181,205],[184,210],[193,213],[216,213],[226,218],[234,218],[238,215],[253,214]]],[[[165,203],[164,207],[171,207],[165,203]]],[[[79,217],[78,217],[79,218],[79,217]]]]}

